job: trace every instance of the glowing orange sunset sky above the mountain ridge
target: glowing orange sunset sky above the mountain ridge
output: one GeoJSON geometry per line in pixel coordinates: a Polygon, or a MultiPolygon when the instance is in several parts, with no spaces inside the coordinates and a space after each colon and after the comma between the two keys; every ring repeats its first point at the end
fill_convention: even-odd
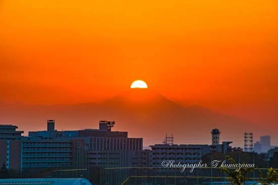
{"type": "Polygon", "coordinates": [[[3,0],[0,101],[100,103],[141,79],[254,121],[277,115],[277,43],[274,0],[3,0]]]}

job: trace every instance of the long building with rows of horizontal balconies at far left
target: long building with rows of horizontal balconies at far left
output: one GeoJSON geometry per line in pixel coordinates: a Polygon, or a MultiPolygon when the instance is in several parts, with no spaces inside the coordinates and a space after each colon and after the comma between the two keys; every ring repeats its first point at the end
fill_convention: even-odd
{"type": "Polygon", "coordinates": [[[0,147],[0,163],[5,163],[8,169],[20,171],[49,167],[80,168],[85,161],[83,140],[0,141],[0,147]]]}

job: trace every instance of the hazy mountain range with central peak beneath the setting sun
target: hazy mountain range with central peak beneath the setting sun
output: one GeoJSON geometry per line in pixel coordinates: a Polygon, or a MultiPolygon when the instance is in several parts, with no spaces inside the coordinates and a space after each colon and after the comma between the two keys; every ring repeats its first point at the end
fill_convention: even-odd
{"type": "Polygon", "coordinates": [[[57,130],[98,128],[99,120],[115,120],[112,130],[128,131],[129,137],[143,137],[145,146],[161,144],[166,133],[174,135],[175,144],[210,144],[214,126],[221,131],[220,142],[236,140],[236,146],[243,146],[245,131],[256,136],[277,133],[277,126],[252,124],[198,105],[184,108],[149,88],[129,89],[100,105],[0,103],[0,123],[17,125],[25,135],[28,131],[46,130],[47,119],[56,120],[57,130]]]}

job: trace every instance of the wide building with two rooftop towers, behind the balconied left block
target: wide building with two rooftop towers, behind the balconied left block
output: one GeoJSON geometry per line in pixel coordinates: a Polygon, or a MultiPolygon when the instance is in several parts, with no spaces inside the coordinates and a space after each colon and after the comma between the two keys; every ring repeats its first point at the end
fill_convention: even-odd
{"type": "Polygon", "coordinates": [[[48,120],[47,131],[29,132],[29,137],[32,140],[82,140],[90,165],[131,166],[128,156],[133,153],[131,151],[143,150],[143,138],[129,138],[127,132],[111,131],[114,124],[114,121],[99,121],[99,129],[57,131],[55,120],[48,120]]]}

